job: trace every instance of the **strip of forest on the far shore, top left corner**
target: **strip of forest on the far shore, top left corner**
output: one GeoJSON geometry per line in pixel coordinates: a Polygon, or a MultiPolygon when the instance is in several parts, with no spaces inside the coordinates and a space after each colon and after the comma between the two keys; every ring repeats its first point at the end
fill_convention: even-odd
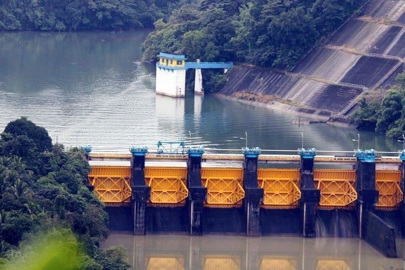
{"type": "Polygon", "coordinates": [[[153,27],[180,0],[0,0],[0,30],[126,30],[153,27]]]}

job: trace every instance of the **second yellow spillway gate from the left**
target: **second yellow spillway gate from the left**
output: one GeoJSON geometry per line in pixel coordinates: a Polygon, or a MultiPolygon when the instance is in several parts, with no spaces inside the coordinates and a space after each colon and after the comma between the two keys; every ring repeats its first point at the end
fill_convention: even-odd
{"type": "Polygon", "coordinates": [[[145,167],[145,181],[150,186],[150,203],[182,206],[188,197],[186,167],[145,167]]]}

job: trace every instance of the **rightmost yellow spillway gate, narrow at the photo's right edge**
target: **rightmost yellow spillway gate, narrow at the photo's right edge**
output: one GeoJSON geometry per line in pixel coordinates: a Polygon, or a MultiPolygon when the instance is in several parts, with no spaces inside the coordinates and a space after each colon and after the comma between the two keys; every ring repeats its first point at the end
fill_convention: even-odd
{"type": "Polygon", "coordinates": [[[379,191],[378,208],[392,209],[403,200],[400,188],[401,171],[376,171],[376,189],[379,191]]]}

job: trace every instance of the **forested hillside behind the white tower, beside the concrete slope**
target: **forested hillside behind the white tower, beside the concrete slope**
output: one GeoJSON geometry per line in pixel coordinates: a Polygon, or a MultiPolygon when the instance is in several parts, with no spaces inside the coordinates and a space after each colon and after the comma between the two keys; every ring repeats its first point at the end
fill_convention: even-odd
{"type": "Polygon", "coordinates": [[[321,36],[339,27],[365,0],[203,0],[159,19],[144,59],[159,51],[189,60],[241,61],[291,67],[321,36]]]}

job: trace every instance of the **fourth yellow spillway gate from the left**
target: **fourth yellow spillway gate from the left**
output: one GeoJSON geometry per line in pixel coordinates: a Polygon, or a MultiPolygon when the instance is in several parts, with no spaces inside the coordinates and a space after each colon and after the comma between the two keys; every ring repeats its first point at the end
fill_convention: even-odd
{"type": "Polygon", "coordinates": [[[257,171],[259,186],[264,190],[263,208],[297,208],[301,198],[298,169],[265,169],[257,171]]]}

